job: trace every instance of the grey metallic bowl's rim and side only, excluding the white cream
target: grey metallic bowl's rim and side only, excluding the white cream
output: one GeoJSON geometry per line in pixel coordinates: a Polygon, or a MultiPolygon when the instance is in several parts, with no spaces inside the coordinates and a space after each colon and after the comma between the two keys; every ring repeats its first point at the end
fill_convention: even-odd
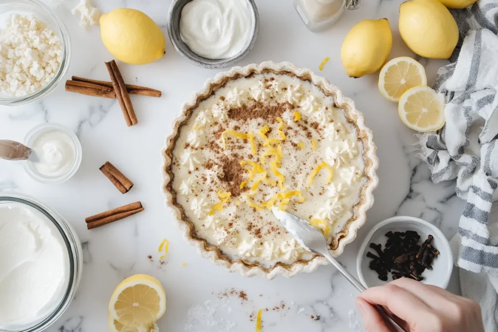
{"type": "Polygon", "coordinates": [[[192,0],[173,0],[168,12],[168,36],[175,50],[189,62],[196,66],[218,69],[232,67],[234,64],[242,60],[256,43],[256,37],[259,32],[259,14],[254,0],[246,0],[251,13],[251,34],[244,46],[244,49],[237,55],[225,59],[207,59],[194,53],[180,36],[180,16],[183,6],[192,0]]]}

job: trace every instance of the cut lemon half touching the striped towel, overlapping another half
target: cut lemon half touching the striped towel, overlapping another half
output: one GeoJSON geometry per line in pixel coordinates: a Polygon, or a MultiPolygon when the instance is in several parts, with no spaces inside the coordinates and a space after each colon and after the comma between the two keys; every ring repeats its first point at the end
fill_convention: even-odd
{"type": "Polygon", "coordinates": [[[411,88],[399,99],[398,114],[414,130],[437,130],[445,123],[443,97],[429,87],[411,88]]]}

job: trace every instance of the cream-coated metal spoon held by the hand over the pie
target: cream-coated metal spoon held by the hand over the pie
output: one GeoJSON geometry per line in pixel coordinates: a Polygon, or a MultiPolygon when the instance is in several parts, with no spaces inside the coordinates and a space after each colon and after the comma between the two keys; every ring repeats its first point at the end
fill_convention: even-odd
{"type": "MultiPolygon", "coordinates": [[[[339,263],[337,259],[332,257],[329,252],[329,247],[327,245],[327,240],[323,236],[322,232],[310,225],[308,221],[297,218],[296,216],[280,211],[277,208],[271,208],[271,211],[275,217],[282,223],[282,225],[291,233],[296,241],[299,242],[304,248],[311,252],[320,254],[327,258],[336,269],[341,272],[343,276],[348,279],[348,281],[358,289],[358,291],[363,292],[366,288],[360,283],[351,273],[346,270],[346,268],[339,263]]],[[[375,309],[379,314],[385,318],[391,325],[397,330],[402,332],[407,332],[402,325],[399,323],[401,320],[393,315],[391,315],[382,306],[375,306],[375,309]]]]}

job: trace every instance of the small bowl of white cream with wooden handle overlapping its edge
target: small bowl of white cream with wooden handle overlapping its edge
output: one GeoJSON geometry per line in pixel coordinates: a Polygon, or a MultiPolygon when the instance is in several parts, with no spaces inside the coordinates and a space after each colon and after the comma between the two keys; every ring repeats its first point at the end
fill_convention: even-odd
{"type": "Polygon", "coordinates": [[[34,180],[61,183],[69,180],[81,164],[82,149],[71,129],[56,123],[44,123],[31,129],[24,139],[35,158],[24,163],[24,169],[34,180]]]}

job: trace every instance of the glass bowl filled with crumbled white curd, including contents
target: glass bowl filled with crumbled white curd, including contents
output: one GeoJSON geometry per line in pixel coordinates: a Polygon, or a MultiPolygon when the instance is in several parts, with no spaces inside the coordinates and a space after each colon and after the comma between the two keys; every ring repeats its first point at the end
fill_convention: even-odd
{"type": "Polygon", "coordinates": [[[0,0],[0,105],[20,105],[55,89],[69,68],[64,23],[40,0],[0,0]]]}

